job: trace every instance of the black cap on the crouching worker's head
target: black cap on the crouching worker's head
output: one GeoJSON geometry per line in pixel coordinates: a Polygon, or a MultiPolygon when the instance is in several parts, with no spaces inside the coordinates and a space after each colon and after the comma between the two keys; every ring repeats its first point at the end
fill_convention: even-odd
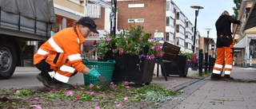
{"type": "Polygon", "coordinates": [[[98,33],[98,31],[96,30],[97,25],[95,25],[94,20],[91,19],[90,17],[82,17],[78,20],[78,24],[81,25],[86,25],[90,31],[92,31],[93,33],[98,33]]]}

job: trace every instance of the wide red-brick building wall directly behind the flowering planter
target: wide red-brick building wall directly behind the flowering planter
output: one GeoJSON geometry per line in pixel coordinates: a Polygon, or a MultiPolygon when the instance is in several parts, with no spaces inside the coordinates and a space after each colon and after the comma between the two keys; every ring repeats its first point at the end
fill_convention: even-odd
{"type": "Polygon", "coordinates": [[[126,28],[129,18],[144,18],[144,22],[136,23],[143,25],[147,33],[154,34],[165,32],[166,25],[166,1],[165,0],[138,0],[118,2],[118,28],[126,28]],[[144,3],[144,7],[128,8],[128,4],[144,3]]]}

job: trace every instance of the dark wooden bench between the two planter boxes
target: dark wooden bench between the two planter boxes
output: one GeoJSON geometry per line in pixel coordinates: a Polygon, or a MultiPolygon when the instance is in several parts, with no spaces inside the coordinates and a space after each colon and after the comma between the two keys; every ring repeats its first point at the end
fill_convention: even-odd
{"type": "Polygon", "coordinates": [[[168,80],[166,76],[166,68],[165,68],[164,62],[173,64],[175,67],[177,67],[178,72],[180,72],[178,68],[177,60],[176,60],[180,49],[181,48],[178,47],[177,45],[170,44],[169,42],[166,42],[166,41],[164,42],[164,44],[162,45],[162,51],[164,52],[164,54],[162,57],[159,57],[156,62],[157,76],[158,76],[158,70],[159,70],[159,64],[160,64],[162,69],[162,75],[165,76],[166,81],[168,80]]]}

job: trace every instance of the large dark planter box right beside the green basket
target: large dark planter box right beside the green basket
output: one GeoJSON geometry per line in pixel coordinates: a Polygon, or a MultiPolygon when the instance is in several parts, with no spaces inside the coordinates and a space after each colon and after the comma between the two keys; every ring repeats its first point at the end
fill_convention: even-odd
{"type": "Polygon", "coordinates": [[[115,60],[112,82],[115,84],[123,81],[134,84],[150,84],[153,79],[156,60],[139,59],[138,56],[119,55],[112,52],[106,53],[104,60],[115,60]]]}

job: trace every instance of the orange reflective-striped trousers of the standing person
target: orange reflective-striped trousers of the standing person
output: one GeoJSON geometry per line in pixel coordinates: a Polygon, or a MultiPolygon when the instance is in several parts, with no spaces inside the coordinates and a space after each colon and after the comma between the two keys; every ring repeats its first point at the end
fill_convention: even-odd
{"type": "Polygon", "coordinates": [[[233,57],[234,57],[234,39],[232,39],[232,44],[228,46],[222,45],[222,47],[217,45],[216,48],[217,59],[214,64],[213,73],[221,74],[223,63],[225,60],[224,71],[225,75],[230,75],[232,70],[233,64],[233,57]]]}

